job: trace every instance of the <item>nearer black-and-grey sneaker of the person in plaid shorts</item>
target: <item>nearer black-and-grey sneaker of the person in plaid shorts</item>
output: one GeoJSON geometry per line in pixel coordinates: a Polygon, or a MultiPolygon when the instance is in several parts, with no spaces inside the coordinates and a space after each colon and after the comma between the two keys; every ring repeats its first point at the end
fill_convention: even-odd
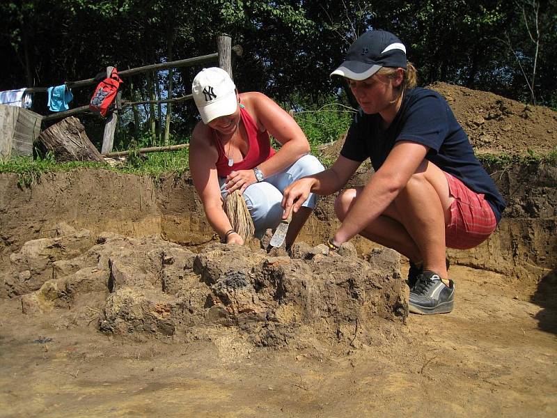
{"type": "Polygon", "coordinates": [[[409,310],[412,314],[448,314],[455,302],[455,283],[443,283],[435,272],[426,270],[410,291],[409,310]]]}

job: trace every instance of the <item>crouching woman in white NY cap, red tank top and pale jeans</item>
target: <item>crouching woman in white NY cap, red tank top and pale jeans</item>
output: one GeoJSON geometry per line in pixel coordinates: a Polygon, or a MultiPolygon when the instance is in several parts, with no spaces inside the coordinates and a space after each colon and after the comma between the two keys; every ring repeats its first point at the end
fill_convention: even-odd
{"type": "MultiPolygon", "coordinates": [[[[308,140],[294,119],[262,93],[237,93],[221,68],[196,75],[191,93],[201,115],[189,148],[189,169],[205,215],[224,242],[242,245],[223,210],[223,196],[239,189],[244,196],[255,235],[275,228],[283,215],[283,190],[292,181],[324,167],[309,155],[308,140]],[[275,151],[271,134],[281,148],[275,151]]],[[[290,247],[315,208],[309,194],[292,217],[285,238],[290,247]]]]}

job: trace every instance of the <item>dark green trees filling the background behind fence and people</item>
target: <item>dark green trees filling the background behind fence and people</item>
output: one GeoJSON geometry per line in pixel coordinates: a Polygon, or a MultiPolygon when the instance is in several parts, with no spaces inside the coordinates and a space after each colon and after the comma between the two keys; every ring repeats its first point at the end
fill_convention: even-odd
{"type": "MultiPolygon", "coordinates": [[[[125,70],[212,54],[216,37],[228,33],[243,49],[233,56],[240,91],[315,104],[342,90],[331,70],[356,36],[375,28],[405,43],[421,85],[460,84],[555,108],[556,13],[556,1],[540,0],[7,0],[0,2],[0,90],[88,79],[107,65],[125,70]],[[100,51],[100,40],[109,47],[100,51]]],[[[187,95],[207,65],[124,77],[123,100],[187,95]]],[[[92,91],[74,88],[71,106],[87,104],[92,91]]],[[[34,111],[48,113],[45,97],[36,93],[34,111]]],[[[120,115],[123,138],[148,137],[153,146],[171,134],[187,137],[195,107],[173,104],[169,130],[166,111],[166,104],[128,108],[120,115]]]]}

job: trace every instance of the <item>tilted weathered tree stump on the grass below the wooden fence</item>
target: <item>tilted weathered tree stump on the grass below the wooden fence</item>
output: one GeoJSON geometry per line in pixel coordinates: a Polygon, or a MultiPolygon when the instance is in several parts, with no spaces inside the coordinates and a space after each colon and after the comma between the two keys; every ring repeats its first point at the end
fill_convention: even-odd
{"type": "Polygon", "coordinates": [[[99,161],[102,155],[85,133],[78,118],[70,116],[42,131],[40,142],[54,153],[56,161],[99,161]]]}

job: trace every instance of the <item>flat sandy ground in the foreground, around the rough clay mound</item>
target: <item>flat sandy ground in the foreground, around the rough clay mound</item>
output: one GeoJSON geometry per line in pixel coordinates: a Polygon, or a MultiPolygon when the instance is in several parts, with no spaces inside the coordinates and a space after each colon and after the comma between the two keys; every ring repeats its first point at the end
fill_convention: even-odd
{"type": "Polygon", "coordinates": [[[450,275],[452,314],[412,315],[378,348],[326,353],[252,348],[230,328],[133,343],[99,334],[94,320],[56,329],[1,300],[0,416],[557,416],[554,307],[499,274],[450,275]]]}

